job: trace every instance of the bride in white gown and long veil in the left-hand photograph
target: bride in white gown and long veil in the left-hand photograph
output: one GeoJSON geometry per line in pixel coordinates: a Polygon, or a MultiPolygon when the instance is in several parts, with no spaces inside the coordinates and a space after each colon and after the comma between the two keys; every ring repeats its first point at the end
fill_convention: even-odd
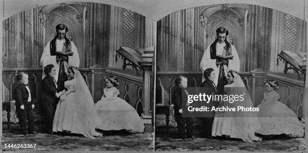
{"type": "Polygon", "coordinates": [[[52,131],[83,134],[89,138],[101,136],[96,131],[100,118],[84,78],[75,68],[69,67],[67,73],[69,80],[64,83],[67,91],[56,94],[60,101],[55,111],[52,131]]]}

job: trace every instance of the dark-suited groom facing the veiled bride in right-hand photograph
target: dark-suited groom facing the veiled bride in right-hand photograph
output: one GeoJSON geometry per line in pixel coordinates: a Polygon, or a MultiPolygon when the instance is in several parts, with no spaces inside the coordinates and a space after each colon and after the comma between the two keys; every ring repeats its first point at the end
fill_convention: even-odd
{"type": "MultiPolygon", "coordinates": [[[[200,87],[205,87],[203,93],[206,95],[212,95],[212,94],[217,94],[217,89],[214,84],[215,80],[215,71],[213,68],[207,68],[203,72],[203,76],[205,78],[205,81],[201,84],[200,87]]],[[[217,106],[218,102],[211,101],[207,104],[207,107],[212,109],[212,106],[217,106]]],[[[204,137],[205,138],[212,138],[212,124],[214,120],[214,115],[215,112],[209,112],[207,114],[207,117],[204,117],[204,128],[205,128],[205,133],[204,137]]]]}

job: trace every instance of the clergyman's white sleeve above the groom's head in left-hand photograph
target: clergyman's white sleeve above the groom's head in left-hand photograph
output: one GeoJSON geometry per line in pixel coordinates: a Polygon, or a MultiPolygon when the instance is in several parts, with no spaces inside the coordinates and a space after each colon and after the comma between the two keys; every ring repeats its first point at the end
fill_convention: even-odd
{"type": "Polygon", "coordinates": [[[46,65],[53,64],[54,66],[57,66],[56,56],[50,55],[50,42],[47,43],[46,47],[43,50],[41,59],[40,59],[40,65],[42,67],[45,67],[46,65]]]}

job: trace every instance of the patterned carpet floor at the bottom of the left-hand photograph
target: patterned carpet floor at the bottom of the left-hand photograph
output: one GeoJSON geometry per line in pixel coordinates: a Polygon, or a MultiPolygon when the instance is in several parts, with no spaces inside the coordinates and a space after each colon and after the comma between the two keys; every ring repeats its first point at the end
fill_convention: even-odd
{"type": "Polygon", "coordinates": [[[33,149],[22,148],[4,148],[4,151],[35,151],[35,150],[110,150],[110,151],[151,151],[153,150],[153,133],[130,134],[124,131],[109,133],[102,137],[89,139],[82,135],[49,135],[45,134],[44,126],[37,125],[37,135],[21,135],[19,126],[12,124],[8,129],[8,125],[3,125],[3,146],[5,144],[28,144],[35,143],[33,149]]]}

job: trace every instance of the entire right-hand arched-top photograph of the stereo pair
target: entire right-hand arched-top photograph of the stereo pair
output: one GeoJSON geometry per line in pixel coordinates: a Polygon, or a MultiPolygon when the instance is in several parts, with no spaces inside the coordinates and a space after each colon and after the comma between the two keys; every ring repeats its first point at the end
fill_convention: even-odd
{"type": "Polygon", "coordinates": [[[305,21],[249,4],[158,21],[155,150],[304,151],[306,33],[305,21]],[[245,98],[208,109],[192,103],[201,93],[245,98]]]}

